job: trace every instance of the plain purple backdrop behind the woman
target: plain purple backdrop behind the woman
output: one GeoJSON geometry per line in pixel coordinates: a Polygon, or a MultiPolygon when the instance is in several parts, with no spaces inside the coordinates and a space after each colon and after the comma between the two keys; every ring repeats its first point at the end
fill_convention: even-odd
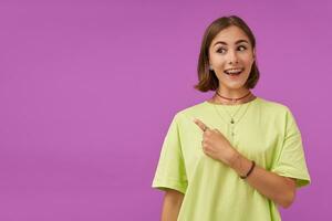
{"type": "Polygon", "coordinates": [[[288,105],[312,185],[283,220],[331,220],[329,1],[1,1],[0,220],[159,219],[151,188],[174,114],[193,88],[206,27],[255,32],[255,93],[288,105]]]}

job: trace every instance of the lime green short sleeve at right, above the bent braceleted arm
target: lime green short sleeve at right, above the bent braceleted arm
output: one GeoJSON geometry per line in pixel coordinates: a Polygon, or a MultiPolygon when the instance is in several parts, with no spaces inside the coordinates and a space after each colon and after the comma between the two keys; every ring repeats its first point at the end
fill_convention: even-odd
{"type": "Polygon", "coordinates": [[[271,171],[283,177],[295,178],[297,187],[307,186],[311,182],[301,133],[289,108],[287,108],[282,147],[271,171]]]}

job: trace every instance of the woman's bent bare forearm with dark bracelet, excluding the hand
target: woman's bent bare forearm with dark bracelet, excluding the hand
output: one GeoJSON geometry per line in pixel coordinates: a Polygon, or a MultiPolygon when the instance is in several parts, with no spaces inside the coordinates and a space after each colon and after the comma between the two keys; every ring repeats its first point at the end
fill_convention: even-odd
{"type": "MultiPolygon", "coordinates": [[[[230,167],[239,175],[243,176],[251,167],[251,161],[236,151],[230,167]]],[[[295,197],[295,181],[292,178],[279,176],[256,165],[247,182],[257,189],[261,194],[273,200],[283,208],[288,208],[295,197]]]]}

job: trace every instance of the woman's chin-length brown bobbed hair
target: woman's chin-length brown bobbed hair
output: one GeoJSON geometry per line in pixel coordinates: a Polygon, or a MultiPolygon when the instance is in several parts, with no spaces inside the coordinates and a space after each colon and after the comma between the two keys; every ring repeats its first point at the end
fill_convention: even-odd
{"type": "MultiPolygon", "coordinates": [[[[200,46],[199,57],[198,57],[198,84],[194,85],[194,88],[200,92],[216,91],[219,87],[219,81],[214,71],[209,70],[209,46],[215,39],[215,36],[224,29],[227,29],[231,25],[240,28],[249,38],[252,50],[256,48],[256,39],[253,33],[247,23],[237,15],[221,17],[216,19],[208,28],[206,29],[203,42],[200,46]]],[[[259,80],[259,71],[257,67],[256,60],[252,63],[249,77],[245,84],[247,88],[253,88],[259,80]]]]}

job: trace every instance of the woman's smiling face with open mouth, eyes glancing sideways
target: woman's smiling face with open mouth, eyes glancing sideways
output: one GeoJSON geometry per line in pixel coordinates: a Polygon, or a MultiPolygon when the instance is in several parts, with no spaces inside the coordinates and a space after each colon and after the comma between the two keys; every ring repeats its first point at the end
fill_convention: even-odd
{"type": "Polygon", "coordinates": [[[255,50],[247,34],[238,27],[221,30],[210,44],[209,64],[221,88],[246,88],[253,61],[255,50]]]}

